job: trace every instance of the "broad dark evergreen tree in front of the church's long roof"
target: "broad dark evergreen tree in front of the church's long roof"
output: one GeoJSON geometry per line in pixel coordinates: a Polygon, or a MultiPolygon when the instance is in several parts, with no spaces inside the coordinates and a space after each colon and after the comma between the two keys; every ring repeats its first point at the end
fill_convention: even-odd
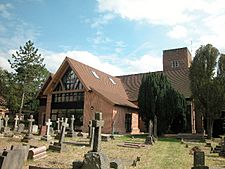
{"type": "Polygon", "coordinates": [[[160,121],[157,125],[158,134],[167,131],[178,116],[183,118],[183,127],[185,127],[185,98],[171,87],[163,74],[149,73],[143,77],[138,106],[139,114],[145,124],[148,125],[149,120],[154,121],[154,117],[160,121]]]}

